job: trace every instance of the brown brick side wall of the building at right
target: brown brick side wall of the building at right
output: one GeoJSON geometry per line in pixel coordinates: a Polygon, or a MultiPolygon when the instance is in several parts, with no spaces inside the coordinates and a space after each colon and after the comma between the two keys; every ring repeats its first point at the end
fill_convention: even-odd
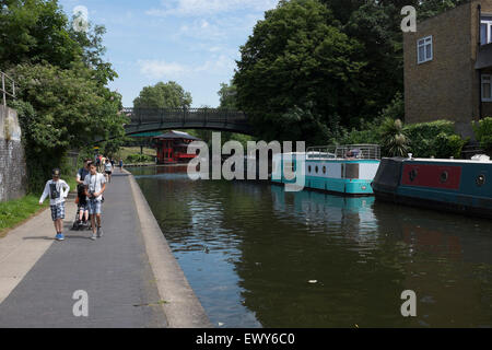
{"type": "MultiPolygon", "coordinates": [[[[485,1],[491,2],[491,1],[485,1]]],[[[492,2],[491,2],[492,3],[492,2]]],[[[403,35],[406,121],[448,119],[471,122],[475,68],[472,3],[460,5],[418,24],[403,35]],[[417,42],[433,37],[433,60],[418,63],[417,42]]]]}

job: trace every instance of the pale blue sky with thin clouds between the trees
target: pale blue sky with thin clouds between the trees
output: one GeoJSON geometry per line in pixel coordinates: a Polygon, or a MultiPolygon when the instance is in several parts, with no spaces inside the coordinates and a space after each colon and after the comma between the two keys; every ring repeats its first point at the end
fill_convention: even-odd
{"type": "Polygon", "coordinates": [[[176,81],[191,93],[192,106],[219,106],[239,46],[278,0],[59,0],[71,18],[85,7],[90,23],[107,33],[106,60],[118,73],[109,84],[133,106],[143,86],[176,81]]]}

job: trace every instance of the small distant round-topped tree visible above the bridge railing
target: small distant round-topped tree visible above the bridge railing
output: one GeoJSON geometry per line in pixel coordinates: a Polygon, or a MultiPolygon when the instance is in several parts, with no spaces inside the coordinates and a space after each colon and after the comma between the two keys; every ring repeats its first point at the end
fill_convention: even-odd
{"type": "Polygon", "coordinates": [[[159,82],[153,86],[145,86],[133,100],[134,108],[183,108],[190,107],[191,94],[178,83],[169,81],[159,82]]]}

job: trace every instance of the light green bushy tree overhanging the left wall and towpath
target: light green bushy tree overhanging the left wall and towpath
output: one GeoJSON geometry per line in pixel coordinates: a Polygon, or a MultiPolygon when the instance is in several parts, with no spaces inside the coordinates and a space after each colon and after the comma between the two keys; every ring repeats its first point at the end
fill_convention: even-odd
{"type": "Polygon", "coordinates": [[[11,106],[20,116],[33,190],[68,150],[124,133],[121,96],[90,79],[92,71],[83,65],[60,69],[25,63],[9,74],[20,82],[11,106]]]}

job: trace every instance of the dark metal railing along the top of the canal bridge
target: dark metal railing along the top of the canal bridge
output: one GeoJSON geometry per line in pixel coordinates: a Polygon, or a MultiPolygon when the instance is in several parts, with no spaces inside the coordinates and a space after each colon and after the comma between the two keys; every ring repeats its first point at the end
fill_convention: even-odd
{"type": "Polygon", "coordinates": [[[131,125],[155,122],[181,124],[247,124],[246,115],[239,110],[221,108],[124,108],[131,125]]]}

